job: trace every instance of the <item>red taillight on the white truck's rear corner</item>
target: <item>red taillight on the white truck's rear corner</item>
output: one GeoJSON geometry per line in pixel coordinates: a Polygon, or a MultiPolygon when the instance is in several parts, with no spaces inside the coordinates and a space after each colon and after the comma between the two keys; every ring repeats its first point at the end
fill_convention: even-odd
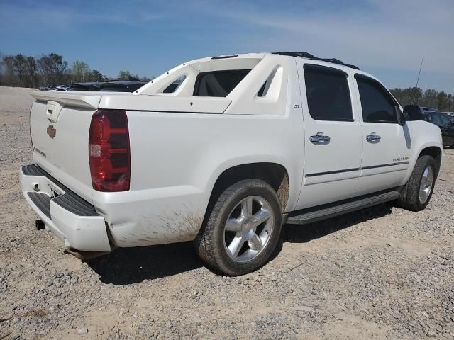
{"type": "Polygon", "coordinates": [[[94,113],[88,151],[94,190],[129,190],[131,161],[126,111],[98,110],[94,113]]]}

